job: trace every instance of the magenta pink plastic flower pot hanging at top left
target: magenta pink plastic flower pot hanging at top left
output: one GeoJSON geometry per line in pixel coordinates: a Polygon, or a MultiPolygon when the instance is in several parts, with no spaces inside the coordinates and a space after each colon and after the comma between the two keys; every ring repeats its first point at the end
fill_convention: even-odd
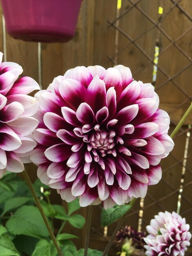
{"type": "Polygon", "coordinates": [[[1,0],[7,32],[14,38],[67,42],[75,34],[82,0],[1,0]]]}

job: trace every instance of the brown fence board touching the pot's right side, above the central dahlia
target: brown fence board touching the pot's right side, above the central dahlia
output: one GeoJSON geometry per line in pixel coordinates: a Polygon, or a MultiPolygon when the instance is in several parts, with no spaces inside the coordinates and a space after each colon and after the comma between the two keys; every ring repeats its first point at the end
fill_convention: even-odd
{"type": "Polygon", "coordinates": [[[92,65],[94,1],[84,0],[76,34],[67,43],[42,44],[42,84],[47,88],[54,77],[78,65],[92,65]]]}

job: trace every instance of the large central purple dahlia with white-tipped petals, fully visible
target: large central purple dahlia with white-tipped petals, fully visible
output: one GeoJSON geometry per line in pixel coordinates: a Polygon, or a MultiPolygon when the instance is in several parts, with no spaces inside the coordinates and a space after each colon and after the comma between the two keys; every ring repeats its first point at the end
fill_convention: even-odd
{"type": "Polygon", "coordinates": [[[150,83],[128,67],[76,67],[38,92],[38,177],[80,205],[121,205],[145,197],[161,179],[159,162],[173,148],[170,119],[150,83]]]}

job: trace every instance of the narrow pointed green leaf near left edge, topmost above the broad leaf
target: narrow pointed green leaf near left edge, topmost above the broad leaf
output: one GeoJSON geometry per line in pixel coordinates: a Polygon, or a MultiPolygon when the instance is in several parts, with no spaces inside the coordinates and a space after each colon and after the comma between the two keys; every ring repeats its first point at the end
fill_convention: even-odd
{"type": "Polygon", "coordinates": [[[32,198],[26,198],[26,197],[10,198],[4,204],[4,211],[3,211],[2,215],[4,215],[4,213],[6,213],[7,211],[18,208],[18,207],[22,206],[23,204],[26,204],[27,202],[29,202],[31,200],[32,200],[32,198]]]}

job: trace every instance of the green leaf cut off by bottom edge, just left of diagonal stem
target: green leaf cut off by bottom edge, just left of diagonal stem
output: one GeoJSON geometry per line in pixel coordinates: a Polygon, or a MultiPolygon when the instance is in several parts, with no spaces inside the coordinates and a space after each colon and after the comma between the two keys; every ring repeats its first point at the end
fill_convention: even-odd
{"type": "Polygon", "coordinates": [[[47,240],[40,240],[35,247],[32,256],[56,256],[57,249],[54,243],[47,240]]]}

